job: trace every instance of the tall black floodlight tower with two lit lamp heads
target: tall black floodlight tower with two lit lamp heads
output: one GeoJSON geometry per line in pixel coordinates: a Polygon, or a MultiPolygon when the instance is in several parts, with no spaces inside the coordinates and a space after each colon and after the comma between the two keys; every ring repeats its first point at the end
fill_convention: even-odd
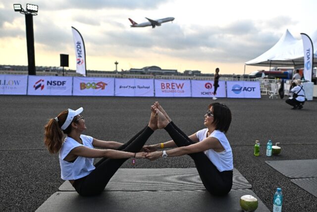
{"type": "Polygon", "coordinates": [[[34,33],[33,33],[33,15],[38,13],[38,5],[26,4],[26,10],[24,10],[21,4],[13,4],[15,12],[20,12],[25,15],[25,29],[26,29],[26,45],[28,51],[28,70],[29,75],[36,75],[35,70],[35,56],[34,56],[34,33]]]}

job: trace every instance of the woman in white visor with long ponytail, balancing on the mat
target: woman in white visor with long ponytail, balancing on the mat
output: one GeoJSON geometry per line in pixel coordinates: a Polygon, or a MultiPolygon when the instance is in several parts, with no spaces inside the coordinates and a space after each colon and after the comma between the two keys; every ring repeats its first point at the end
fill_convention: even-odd
{"type": "Polygon", "coordinates": [[[131,157],[145,158],[139,152],[148,138],[157,130],[157,116],[152,111],[147,127],[127,143],[100,141],[82,135],[85,120],[79,115],[83,108],[65,110],[45,126],[44,142],[51,153],[59,152],[61,178],[69,180],[78,194],[100,194],[118,168],[131,157]],[[66,138],[62,141],[63,133],[66,138]],[[94,147],[103,148],[95,149],[94,147]],[[103,158],[95,165],[94,158],[103,158]]]}

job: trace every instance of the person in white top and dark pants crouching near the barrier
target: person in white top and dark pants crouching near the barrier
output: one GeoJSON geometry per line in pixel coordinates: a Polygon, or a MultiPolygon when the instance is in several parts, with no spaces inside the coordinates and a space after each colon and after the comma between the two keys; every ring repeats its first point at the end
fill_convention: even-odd
{"type": "Polygon", "coordinates": [[[294,80],[296,86],[291,89],[293,97],[286,99],[286,103],[293,106],[292,109],[302,109],[305,102],[305,90],[302,85],[302,80],[294,80]]]}

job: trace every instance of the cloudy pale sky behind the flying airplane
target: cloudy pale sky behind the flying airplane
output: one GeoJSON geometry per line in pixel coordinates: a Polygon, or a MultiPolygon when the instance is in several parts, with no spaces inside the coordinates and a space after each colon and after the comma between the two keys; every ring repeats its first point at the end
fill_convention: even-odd
{"type": "MultiPolygon", "coordinates": [[[[59,66],[69,55],[76,69],[71,26],[83,36],[88,70],[162,69],[242,74],[244,63],[286,29],[297,39],[316,27],[315,0],[0,0],[0,65],[27,65],[24,15],[13,3],[39,5],[33,16],[36,66],[59,66]],[[175,20],[131,28],[128,18],[175,20]]],[[[246,73],[262,69],[246,67],[246,73]]],[[[266,68],[267,69],[267,68],[266,68]]]]}

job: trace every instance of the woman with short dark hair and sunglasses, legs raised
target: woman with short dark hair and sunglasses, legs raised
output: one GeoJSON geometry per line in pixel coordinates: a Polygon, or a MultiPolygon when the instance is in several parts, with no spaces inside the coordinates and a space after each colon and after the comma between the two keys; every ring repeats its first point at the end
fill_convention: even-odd
{"type": "Polygon", "coordinates": [[[218,102],[211,103],[205,114],[207,128],[187,137],[168,117],[156,102],[153,106],[158,113],[158,128],[164,129],[173,139],[164,143],[145,146],[151,153],[150,160],[188,154],[195,162],[205,188],[213,195],[222,196],[230,192],[233,177],[233,157],[225,133],[231,123],[230,109],[218,102]],[[159,148],[172,148],[156,151],[159,148]]]}

